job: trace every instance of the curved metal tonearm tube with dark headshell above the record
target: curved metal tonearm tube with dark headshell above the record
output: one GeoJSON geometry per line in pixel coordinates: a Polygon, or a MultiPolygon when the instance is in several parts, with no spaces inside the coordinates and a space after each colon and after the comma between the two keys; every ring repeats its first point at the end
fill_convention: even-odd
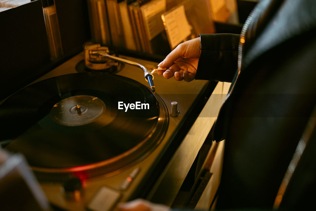
{"type": "Polygon", "coordinates": [[[147,68],[144,67],[143,65],[141,65],[137,62],[134,62],[134,61],[129,61],[127,59],[122,59],[122,58],[119,58],[116,56],[111,56],[111,55],[107,54],[106,50],[89,50],[89,54],[92,54],[92,55],[97,54],[100,56],[105,56],[105,57],[110,58],[112,60],[120,61],[120,62],[123,62],[125,64],[129,64],[129,65],[141,68],[144,71],[145,80],[149,83],[149,87],[151,88],[153,93],[155,93],[155,86],[154,86],[154,82],[153,82],[154,75],[149,70],[147,70],[147,68]]]}

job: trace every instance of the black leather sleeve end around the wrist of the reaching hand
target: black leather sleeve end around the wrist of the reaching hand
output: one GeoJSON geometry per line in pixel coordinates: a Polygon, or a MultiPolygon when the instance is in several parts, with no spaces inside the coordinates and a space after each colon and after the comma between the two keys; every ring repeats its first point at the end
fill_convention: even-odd
{"type": "Polygon", "coordinates": [[[240,35],[200,34],[201,55],[195,79],[232,82],[240,35]]]}

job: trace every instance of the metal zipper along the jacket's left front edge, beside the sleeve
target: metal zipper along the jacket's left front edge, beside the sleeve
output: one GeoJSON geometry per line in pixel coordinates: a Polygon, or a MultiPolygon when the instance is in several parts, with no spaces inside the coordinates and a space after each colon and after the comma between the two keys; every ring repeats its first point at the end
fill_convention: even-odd
{"type": "Polygon", "coordinates": [[[247,30],[248,30],[249,24],[250,24],[250,22],[252,21],[253,14],[254,14],[254,11],[252,10],[252,11],[250,12],[249,16],[247,17],[246,22],[244,23],[242,29],[241,29],[240,39],[239,39],[239,45],[238,45],[238,63],[237,63],[237,65],[238,65],[238,74],[237,74],[237,76],[236,76],[236,79],[234,80],[233,85],[232,85],[231,88],[229,89],[229,92],[228,92],[228,94],[226,95],[226,97],[225,97],[225,99],[224,99],[224,101],[223,101],[223,103],[222,103],[222,106],[221,106],[221,108],[220,108],[220,110],[219,110],[219,112],[218,112],[217,118],[216,118],[215,123],[214,123],[214,125],[213,125],[213,133],[212,133],[212,140],[213,140],[213,141],[215,140],[215,138],[214,138],[214,137],[215,137],[215,135],[214,135],[214,134],[215,134],[215,127],[216,127],[216,123],[218,122],[217,120],[218,120],[219,114],[220,114],[220,112],[222,111],[223,105],[225,104],[225,102],[227,101],[227,99],[229,98],[229,96],[231,95],[231,93],[232,93],[232,91],[233,91],[233,89],[234,89],[234,86],[235,86],[235,84],[236,84],[236,81],[237,81],[237,79],[238,79],[238,77],[239,77],[239,74],[240,74],[240,70],[241,70],[241,57],[242,57],[242,47],[243,47],[243,45],[244,45],[245,42],[246,42],[245,36],[246,36],[246,32],[247,32],[247,30]]]}

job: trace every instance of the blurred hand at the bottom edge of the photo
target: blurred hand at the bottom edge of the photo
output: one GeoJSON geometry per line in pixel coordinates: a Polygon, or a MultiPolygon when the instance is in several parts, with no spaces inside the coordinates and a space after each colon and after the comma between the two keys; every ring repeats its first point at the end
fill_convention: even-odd
{"type": "Polygon", "coordinates": [[[170,208],[165,205],[151,203],[144,199],[120,203],[118,208],[120,211],[170,211],[170,208]]]}

